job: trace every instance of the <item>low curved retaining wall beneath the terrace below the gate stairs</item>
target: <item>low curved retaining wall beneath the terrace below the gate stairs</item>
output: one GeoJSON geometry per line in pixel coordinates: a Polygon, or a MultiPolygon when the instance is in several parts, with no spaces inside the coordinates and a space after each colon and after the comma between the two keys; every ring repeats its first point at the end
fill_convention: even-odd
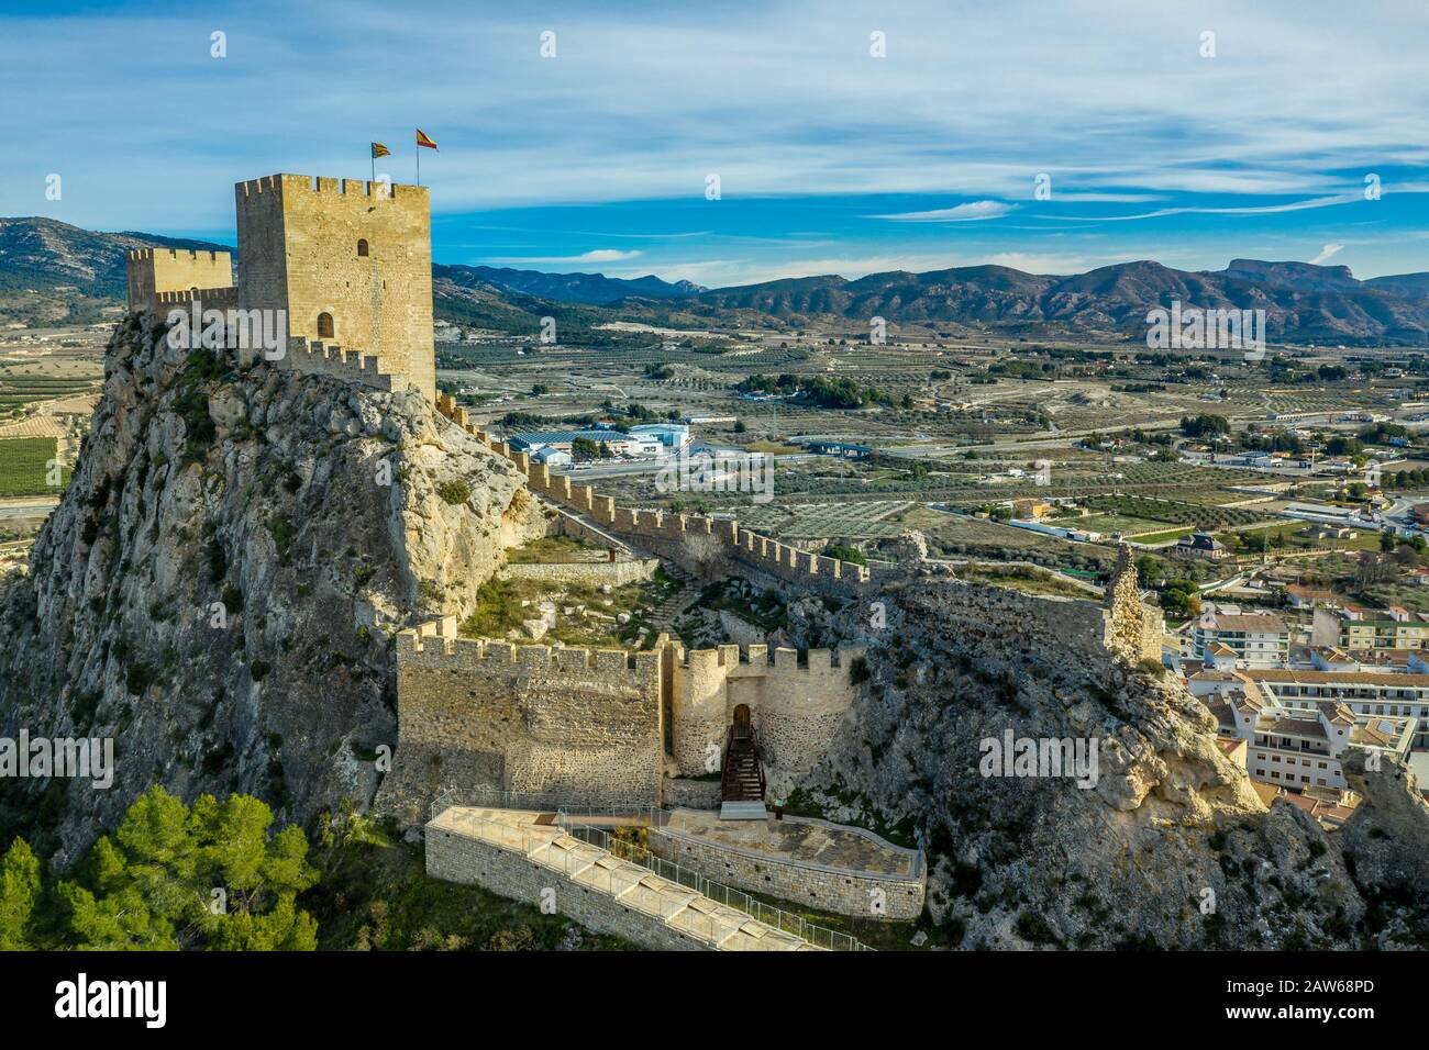
{"type": "MultiPolygon", "coordinates": [[[[797,823],[800,819],[785,817],[785,820],[797,823]]],[[[849,827],[842,830],[853,831],[849,827]]],[[[927,883],[925,871],[916,877],[899,877],[800,864],[767,853],[712,844],[664,827],[652,827],[649,841],[654,856],[699,871],[706,879],[750,893],[773,894],[820,911],[889,921],[913,921],[923,913],[927,883]],[[875,900],[882,903],[882,911],[873,910],[875,900]]],[[[885,846],[887,847],[887,843],[885,846]]]]}

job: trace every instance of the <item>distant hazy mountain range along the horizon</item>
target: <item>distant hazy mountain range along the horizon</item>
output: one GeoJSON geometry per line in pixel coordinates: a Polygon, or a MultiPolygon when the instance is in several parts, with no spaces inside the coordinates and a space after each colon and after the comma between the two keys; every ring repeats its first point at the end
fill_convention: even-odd
{"type": "MultiPolygon", "coordinates": [[[[94,233],[51,219],[0,219],[0,320],[74,323],[106,301],[113,311],[124,294],[124,253],[140,246],[227,249],[144,233],[94,233]]],[[[640,320],[674,327],[849,329],[883,317],[946,334],[1130,339],[1145,333],[1147,310],[1180,301],[1265,310],[1275,341],[1429,346],[1429,273],[1362,281],[1345,266],[1253,259],[1205,271],[1149,260],[1070,276],[966,266],[723,289],[654,276],[627,280],[434,264],[433,291],[439,320],[509,333],[534,331],[542,316],[554,313],[582,326],[640,320]]]]}

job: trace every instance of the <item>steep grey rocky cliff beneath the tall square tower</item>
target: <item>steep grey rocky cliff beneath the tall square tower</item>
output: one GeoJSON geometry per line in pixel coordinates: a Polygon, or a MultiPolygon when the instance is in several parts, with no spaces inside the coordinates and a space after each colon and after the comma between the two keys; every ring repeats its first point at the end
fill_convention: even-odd
{"type": "Polygon", "coordinates": [[[464,614],[544,530],[420,394],[163,336],[116,330],[74,480],[0,591],[3,734],[114,740],[109,790],[0,781],[0,837],[39,826],[60,863],[156,781],[296,820],[364,804],[396,743],[392,633],[464,614]]]}

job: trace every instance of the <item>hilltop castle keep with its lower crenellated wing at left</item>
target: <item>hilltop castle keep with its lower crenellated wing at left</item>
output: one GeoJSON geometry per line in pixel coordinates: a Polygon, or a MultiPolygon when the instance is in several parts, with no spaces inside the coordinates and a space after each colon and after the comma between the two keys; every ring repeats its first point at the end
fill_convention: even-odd
{"type": "MultiPolygon", "coordinates": [[[[239,277],[227,251],[129,253],[129,309],[282,317],[280,364],[436,400],[432,214],[423,186],[273,174],[234,187],[239,277]]],[[[252,354],[252,339],[240,340],[252,354]]]]}

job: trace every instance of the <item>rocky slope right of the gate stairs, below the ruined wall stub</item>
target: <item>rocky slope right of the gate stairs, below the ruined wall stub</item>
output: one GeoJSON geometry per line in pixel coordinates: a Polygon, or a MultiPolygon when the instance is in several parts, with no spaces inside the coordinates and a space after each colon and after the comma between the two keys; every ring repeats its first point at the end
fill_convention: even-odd
{"type": "MultiPolygon", "coordinates": [[[[1412,774],[1362,776],[1328,834],[1266,810],[1185,690],[1115,663],[1093,607],[925,580],[796,633],[867,649],[867,683],[795,801],[919,837],[950,946],[1415,946],[1429,929],[1429,807],[1412,774]],[[880,624],[880,626],[875,626],[880,624]],[[1075,776],[1000,776],[983,741],[1097,741],[1075,776]]],[[[803,639],[800,639],[803,640],[803,639]]],[[[1422,944],[1420,944],[1422,946],[1422,944]]]]}

